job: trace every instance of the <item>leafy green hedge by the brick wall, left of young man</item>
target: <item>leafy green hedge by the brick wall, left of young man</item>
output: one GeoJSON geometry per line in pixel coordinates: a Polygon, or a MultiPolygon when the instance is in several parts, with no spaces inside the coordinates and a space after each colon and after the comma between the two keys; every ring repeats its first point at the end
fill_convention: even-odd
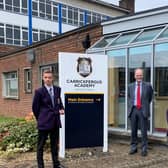
{"type": "Polygon", "coordinates": [[[0,122],[0,149],[6,152],[27,152],[36,149],[37,129],[35,121],[19,119],[0,122]]]}

